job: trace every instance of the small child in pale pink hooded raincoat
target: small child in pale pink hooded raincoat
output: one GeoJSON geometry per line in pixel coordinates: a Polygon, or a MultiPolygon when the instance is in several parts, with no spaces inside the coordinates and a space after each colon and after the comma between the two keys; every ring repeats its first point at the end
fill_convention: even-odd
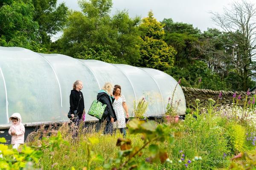
{"type": "Polygon", "coordinates": [[[12,136],[12,148],[18,149],[20,144],[24,144],[25,127],[21,123],[20,113],[13,113],[9,120],[12,123],[8,131],[8,133],[12,136]]]}

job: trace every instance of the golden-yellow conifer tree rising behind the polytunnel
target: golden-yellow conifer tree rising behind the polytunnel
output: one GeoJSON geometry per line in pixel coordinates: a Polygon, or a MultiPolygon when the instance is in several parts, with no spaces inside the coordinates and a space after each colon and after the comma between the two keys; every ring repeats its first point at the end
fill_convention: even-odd
{"type": "Polygon", "coordinates": [[[153,17],[152,11],[148,12],[148,17],[143,18],[140,30],[143,43],[140,47],[139,65],[161,71],[171,68],[177,52],[163,40],[163,25],[153,17]]]}

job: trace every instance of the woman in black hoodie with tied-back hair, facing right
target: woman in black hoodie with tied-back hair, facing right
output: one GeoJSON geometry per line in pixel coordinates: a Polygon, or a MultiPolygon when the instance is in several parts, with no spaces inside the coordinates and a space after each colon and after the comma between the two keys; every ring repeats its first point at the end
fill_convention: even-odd
{"type": "Polygon", "coordinates": [[[73,90],[70,93],[70,117],[71,120],[79,125],[84,112],[84,96],[81,92],[83,88],[83,82],[76,80],[73,84],[73,90]],[[77,119],[76,119],[77,118],[77,119]]]}

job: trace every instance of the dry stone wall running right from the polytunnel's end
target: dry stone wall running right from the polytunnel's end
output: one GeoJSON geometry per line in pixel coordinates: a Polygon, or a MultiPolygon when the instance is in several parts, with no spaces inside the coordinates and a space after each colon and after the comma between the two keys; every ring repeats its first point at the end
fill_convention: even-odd
{"type": "MultiPolygon", "coordinates": [[[[209,98],[214,99],[218,104],[221,105],[232,105],[233,104],[233,91],[212,91],[208,89],[198,89],[198,88],[187,88],[181,87],[186,99],[186,107],[192,108],[192,105],[195,105],[195,99],[200,99],[202,107],[204,107],[209,98]],[[222,94],[220,98],[218,98],[219,94],[222,94]]],[[[236,92],[236,99],[238,99],[239,94],[241,94],[241,99],[239,100],[239,105],[243,106],[245,98],[247,96],[246,92],[238,91],[236,92]]],[[[252,99],[255,92],[251,92],[248,96],[248,99],[252,99]]]]}

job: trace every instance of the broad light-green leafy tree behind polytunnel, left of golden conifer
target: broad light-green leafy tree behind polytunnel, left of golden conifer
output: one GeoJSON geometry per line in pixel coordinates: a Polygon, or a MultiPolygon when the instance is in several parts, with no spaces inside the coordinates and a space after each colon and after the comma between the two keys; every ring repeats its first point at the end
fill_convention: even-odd
{"type": "Polygon", "coordinates": [[[140,57],[137,28],[140,18],[131,19],[127,11],[117,11],[111,17],[111,0],[83,0],[79,5],[82,12],[69,15],[64,34],[57,42],[61,53],[83,59],[135,63],[140,57]]]}

